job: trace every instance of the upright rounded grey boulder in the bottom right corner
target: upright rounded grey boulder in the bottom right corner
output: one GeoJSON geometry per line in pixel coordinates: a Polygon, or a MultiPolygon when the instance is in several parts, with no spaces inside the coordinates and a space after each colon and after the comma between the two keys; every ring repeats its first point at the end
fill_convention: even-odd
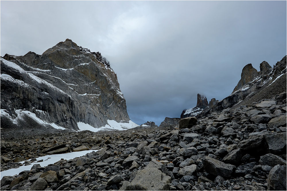
{"type": "Polygon", "coordinates": [[[267,178],[267,190],[287,190],[286,188],[286,166],[274,166],[267,178]]]}

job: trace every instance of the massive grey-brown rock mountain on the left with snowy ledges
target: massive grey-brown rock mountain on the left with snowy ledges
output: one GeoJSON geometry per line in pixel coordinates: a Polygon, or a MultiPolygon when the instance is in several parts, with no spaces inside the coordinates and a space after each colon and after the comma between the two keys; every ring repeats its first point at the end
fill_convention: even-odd
{"type": "Polygon", "coordinates": [[[1,57],[1,127],[30,127],[31,120],[76,131],[138,126],[110,63],[69,39],[42,55],[1,57]]]}

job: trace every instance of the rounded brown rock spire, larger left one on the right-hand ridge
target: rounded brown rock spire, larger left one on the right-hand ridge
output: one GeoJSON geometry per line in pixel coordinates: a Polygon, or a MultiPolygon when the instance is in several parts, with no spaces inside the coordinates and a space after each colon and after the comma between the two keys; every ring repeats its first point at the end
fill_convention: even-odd
{"type": "Polygon", "coordinates": [[[246,66],[244,66],[241,73],[241,79],[239,80],[237,86],[234,88],[233,92],[242,88],[245,84],[250,82],[256,76],[258,76],[258,72],[255,68],[253,68],[252,64],[247,64],[246,66]]]}

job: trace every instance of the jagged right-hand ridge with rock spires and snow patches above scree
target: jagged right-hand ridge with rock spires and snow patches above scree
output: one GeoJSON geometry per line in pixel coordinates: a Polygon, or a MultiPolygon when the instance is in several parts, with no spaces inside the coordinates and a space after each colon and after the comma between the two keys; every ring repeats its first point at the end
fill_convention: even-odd
{"type": "Polygon", "coordinates": [[[251,78],[256,72],[250,64],[247,64],[243,68],[241,80],[234,90],[240,87],[238,85],[241,82],[243,86],[233,91],[228,97],[217,102],[214,107],[200,113],[198,117],[203,117],[209,113],[220,112],[224,109],[251,104],[261,99],[269,99],[282,92],[286,92],[286,56],[284,56],[280,62],[277,62],[273,68],[271,66],[269,67],[269,64],[264,61],[260,64],[260,69],[261,71],[257,72],[257,76],[251,78]],[[248,72],[246,68],[249,68],[251,71],[248,72]],[[251,80],[248,81],[249,79],[251,80]]]}

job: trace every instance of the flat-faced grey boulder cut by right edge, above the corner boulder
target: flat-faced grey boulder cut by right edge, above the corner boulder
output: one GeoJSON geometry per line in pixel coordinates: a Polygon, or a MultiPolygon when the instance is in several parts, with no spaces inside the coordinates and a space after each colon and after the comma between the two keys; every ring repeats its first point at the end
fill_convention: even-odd
{"type": "Polygon", "coordinates": [[[268,133],[264,135],[270,153],[286,154],[286,133],[268,133]]]}

